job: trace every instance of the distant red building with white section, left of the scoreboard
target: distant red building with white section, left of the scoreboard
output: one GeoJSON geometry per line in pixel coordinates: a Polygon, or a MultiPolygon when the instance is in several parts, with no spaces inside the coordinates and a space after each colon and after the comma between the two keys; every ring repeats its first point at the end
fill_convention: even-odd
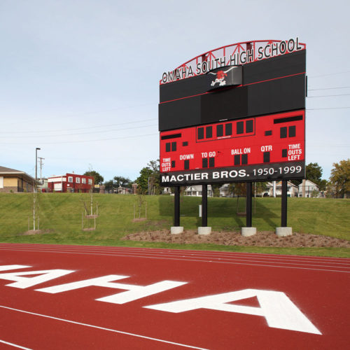
{"type": "Polygon", "coordinates": [[[87,193],[94,188],[94,176],[66,173],[48,178],[49,192],[81,192],[87,193]]]}

